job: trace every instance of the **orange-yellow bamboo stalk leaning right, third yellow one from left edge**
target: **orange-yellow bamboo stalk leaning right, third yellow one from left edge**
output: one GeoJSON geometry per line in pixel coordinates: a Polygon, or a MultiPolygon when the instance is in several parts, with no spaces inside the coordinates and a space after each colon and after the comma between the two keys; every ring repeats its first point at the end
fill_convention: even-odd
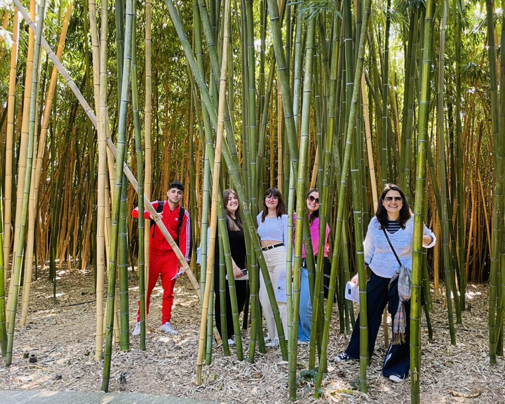
{"type": "MultiPolygon", "coordinates": [[[[58,43],[58,49],[56,51],[56,57],[60,60],[63,54],[63,47],[65,46],[65,39],[67,38],[67,30],[70,23],[70,16],[72,14],[72,9],[74,2],[70,2],[67,8],[67,13],[63,21],[62,31],[60,34],[60,41],[58,43]]],[[[45,98],[44,114],[42,117],[42,128],[40,131],[40,138],[38,140],[38,153],[35,166],[35,176],[34,176],[34,192],[30,191],[30,212],[28,213],[28,244],[26,247],[26,264],[25,264],[25,275],[23,281],[23,305],[21,308],[21,320],[20,326],[23,326],[26,322],[26,317],[28,315],[28,304],[30,300],[30,284],[31,284],[31,274],[32,274],[32,259],[33,259],[33,237],[35,232],[35,216],[36,216],[36,206],[38,201],[38,192],[40,185],[40,175],[42,173],[42,163],[44,159],[45,152],[45,139],[47,136],[47,129],[49,126],[49,118],[51,117],[51,110],[53,106],[53,98],[56,89],[58,71],[56,67],[53,67],[51,73],[51,81],[49,81],[49,88],[47,89],[47,95],[45,98]]]]}

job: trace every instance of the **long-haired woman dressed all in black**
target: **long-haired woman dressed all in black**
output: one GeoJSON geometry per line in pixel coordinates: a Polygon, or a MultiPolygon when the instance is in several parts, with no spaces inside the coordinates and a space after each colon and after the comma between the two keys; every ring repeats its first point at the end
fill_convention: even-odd
{"type": "MultiPolygon", "coordinates": [[[[237,295],[238,314],[242,312],[245,303],[246,283],[242,270],[245,269],[245,238],[240,217],[239,201],[237,194],[232,189],[226,189],[223,192],[223,207],[226,215],[226,224],[228,227],[228,239],[230,241],[231,258],[233,265],[233,276],[235,278],[235,290],[237,295]]],[[[219,238],[216,237],[216,251],[214,259],[214,290],[216,300],[214,302],[214,316],[216,319],[216,327],[221,332],[221,300],[219,293],[219,238]]],[[[226,330],[228,336],[234,334],[233,317],[231,314],[230,291],[228,289],[228,280],[226,280],[226,330]]],[[[228,344],[234,344],[235,341],[228,339],[228,344]]]]}

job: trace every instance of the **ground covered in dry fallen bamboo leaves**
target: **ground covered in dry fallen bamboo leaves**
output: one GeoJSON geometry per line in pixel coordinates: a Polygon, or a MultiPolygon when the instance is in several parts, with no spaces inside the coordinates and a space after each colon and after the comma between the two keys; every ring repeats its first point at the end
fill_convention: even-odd
{"type": "MultiPolygon", "coordinates": [[[[96,391],[102,382],[103,363],[94,361],[95,296],[92,273],[78,270],[59,273],[57,296],[47,273],[39,271],[32,283],[32,297],[27,324],[16,328],[12,366],[0,364],[2,389],[96,391]],[[37,355],[29,364],[23,354],[37,355]],[[61,375],[61,378],[60,378],[61,375]]],[[[136,276],[130,273],[130,323],[133,327],[138,296],[136,276]]],[[[198,349],[199,304],[189,281],[180,279],[175,288],[172,325],[179,334],[172,336],[158,330],[161,316],[162,288],[151,297],[151,316],[146,337],[147,350],[139,349],[138,337],[131,338],[131,349],[114,349],[110,391],[171,395],[201,400],[236,403],[287,403],[287,362],[279,348],[267,348],[255,363],[225,357],[214,344],[212,365],[203,368],[203,384],[195,386],[198,349]]],[[[489,365],[487,358],[487,285],[468,285],[470,310],[463,313],[463,325],[457,325],[457,345],[450,345],[447,315],[443,302],[434,302],[433,341],[428,341],[425,321],[422,329],[421,401],[424,403],[505,403],[503,359],[489,365]],[[473,398],[469,398],[472,396],[473,398]]],[[[331,360],[348,342],[337,333],[335,312],[331,328],[328,358],[331,360]]],[[[18,314],[19,318],[19,314],[18,314]]],[[[130,328],[132,328],[130,327],[130,328]]],[[[248,332],[244,332],[247,354],[248,332]]],[[[300,380],[298,402],[375,402],[400,404],[410,402],[410,383],[395,384],[381,376],[385,349],[382,330],[376,354],[368,371],[368,394],[356,390],[358,362],[330,362],[324,380],[324,394],[314,400],[314,382],[300,380]]],[[[246,355],[247,356],[247,355],[246,355]]],[[[308,346],[299,347],[299,371],[308,363],[308,346]]]]}

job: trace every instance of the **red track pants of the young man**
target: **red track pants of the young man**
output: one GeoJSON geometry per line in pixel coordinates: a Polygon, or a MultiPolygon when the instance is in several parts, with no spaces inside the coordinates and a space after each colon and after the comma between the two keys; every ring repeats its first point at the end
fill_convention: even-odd
{"type": "MultiPolygon", "coordinates": [[[[174,302],[174,285],[175,279],[171,280],[179,267],[179,260],[175,252],[169,252],[164,256],[155,256],[149,254],[149,282],[147,284],[147,308],[146,314],[149,314],[149,303],[151,300],[151,293],[161,276],[161,285],[163,287],[163,306],[162,306],[162,325],[170,321],[172,314],[172,305],[174,302]]],[[[137,311],[137,322],[140,321],[140,301],[139,309],[137,311]]]]}

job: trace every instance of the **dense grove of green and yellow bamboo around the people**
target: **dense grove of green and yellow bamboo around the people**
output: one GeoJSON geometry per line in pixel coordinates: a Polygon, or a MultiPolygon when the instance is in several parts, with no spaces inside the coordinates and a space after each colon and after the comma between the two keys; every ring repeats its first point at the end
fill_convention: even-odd
{"type": "MultiPolygon", "coordinates": [[[[149,222],[137,226],[128,212],[139,206],[156,217],[149,200],[174,178],[190,190],[182,205],[190,212],[193,246],[201,245],[201,264],[194,254],[190,268],[184,262],[201,299],[197,384],[212,362],[213,335],[221,342],[212,296],[222,293],[225,300],[225,273],[234,330],[223,329],[224,355],[230,355],[230,333],[239,360],[261,360],[257,352],[266,352],[261,271],[281,355],[289,362],[289,397],[296,399],[301,247],[312,251],[304,195],[315,186],[320,239],[328,223],[332,262],[325,300],[322,261],[307,254],[316,397],[330,334],[354,326],[343,288],[355,273],[366,318],[363,239],[388,182],[406,191],[415,217],[412,401],[420,401],[420,329],[425,322],[433,337],[433,300],[446,302],[450,343],[456,344],[467,285],[489,282],[490,363],[503,355],[500,4],[14,0],[1,6],[0,346],[7,365],[17,317],[20,327],[27,321],[30,282],[48,274],[56,298],[63,270],[87,271],[96,293],[95,360],[104,358],[105,391],[113,349],[130,349],[128,271],[138,274],[141,349],[148,348],[149,222]],[[289,234],[303,230],[287,245],[286,330],[254,219],[271,186],[286,200],[289,234]],[[236,190],[244,218],[250,278],[242,323],[221,201],[226,188],[236,190]],[[421,245],[423,222],[439,240],[429,253],[421,245]],[[201,237],[208,232],[209,244],[201,237]],[[212,282],[217,237],[220,285],[212,282]]],[[[183,263],[180,251],[178,257],[183,263]]],[[[360,332],[366,341],[367,328],[360,332]]],[[[367,350],[362,344],[359,386],[365,392],[367,350]]]]}

